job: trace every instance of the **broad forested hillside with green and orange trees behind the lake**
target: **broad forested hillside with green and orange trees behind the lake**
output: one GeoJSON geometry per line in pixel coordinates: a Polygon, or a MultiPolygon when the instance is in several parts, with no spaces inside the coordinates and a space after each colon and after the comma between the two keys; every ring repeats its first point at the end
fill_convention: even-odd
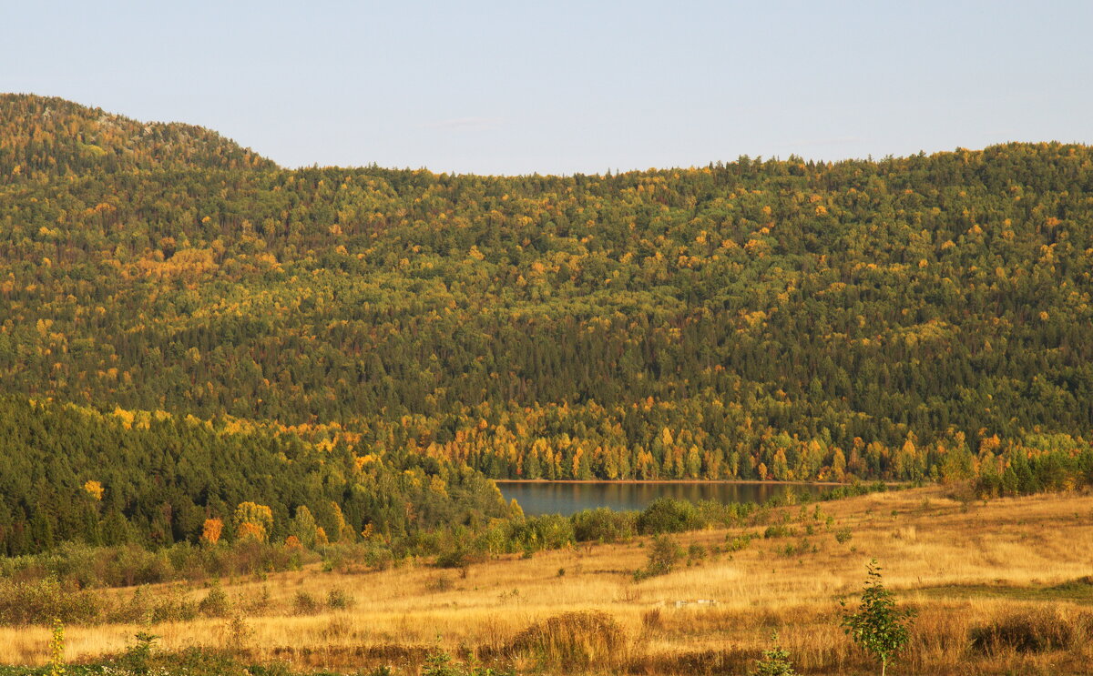
{"type": "Polygon", "coordinates": [[[906,479],[1089,446],[1088,146],[479,177],[149,141],[108,174],[3,100],[4,157],[66,167],[0,186],[9,392],[337,423],[493,476],[906,479]]]}

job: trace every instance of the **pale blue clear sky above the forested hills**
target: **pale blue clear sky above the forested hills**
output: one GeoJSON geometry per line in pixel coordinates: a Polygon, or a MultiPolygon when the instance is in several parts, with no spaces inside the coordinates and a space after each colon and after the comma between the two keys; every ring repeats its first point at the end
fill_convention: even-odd
{"type": "Polygon", "coordinates": [[[1093,142],[1093,2],[0,0],[0,91],[285,167],[599,174],[1093,142]]]}

